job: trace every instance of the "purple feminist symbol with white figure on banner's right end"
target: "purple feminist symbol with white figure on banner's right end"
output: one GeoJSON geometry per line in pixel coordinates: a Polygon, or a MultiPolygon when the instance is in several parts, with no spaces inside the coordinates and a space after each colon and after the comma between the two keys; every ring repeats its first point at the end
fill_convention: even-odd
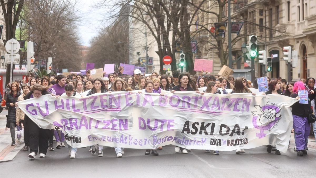
{"type": "Polygon", "coordinates": [[[260,130],[260,133],[256,133],[256,136],[259,138],[265,137],[267,134],[264,133],[264,130],[269,130],[276,121],[281,118],[279,114],[280,109],[275,105],[255,105],[257,110],[252,111],[252,124],[256,129],[260,130]]]}

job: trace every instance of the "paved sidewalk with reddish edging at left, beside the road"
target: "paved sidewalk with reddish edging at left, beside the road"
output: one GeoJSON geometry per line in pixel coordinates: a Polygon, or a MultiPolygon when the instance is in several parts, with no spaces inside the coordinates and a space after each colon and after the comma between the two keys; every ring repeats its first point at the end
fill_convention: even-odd
{"type": "Polygon", "coordinates": [[[24,144],[18,143],[16,143],[15,146],[11,146],[12,139],[10,128],[5,130],[5,125],[7,122],[5,115],[7,113],[7,110],[3,110],[0,115],[0,162],[12,161],[24,146],[24,144]]]}

